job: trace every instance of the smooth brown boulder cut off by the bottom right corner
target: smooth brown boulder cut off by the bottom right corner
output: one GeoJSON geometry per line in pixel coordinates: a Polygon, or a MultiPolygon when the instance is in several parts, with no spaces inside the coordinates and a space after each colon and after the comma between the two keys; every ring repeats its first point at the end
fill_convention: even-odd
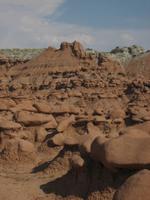
{"type": "Polygon", "coordinates": [[[113,200],[149,200],[150,171],[142,170],[129,177],[115,193],[113,200]]]}

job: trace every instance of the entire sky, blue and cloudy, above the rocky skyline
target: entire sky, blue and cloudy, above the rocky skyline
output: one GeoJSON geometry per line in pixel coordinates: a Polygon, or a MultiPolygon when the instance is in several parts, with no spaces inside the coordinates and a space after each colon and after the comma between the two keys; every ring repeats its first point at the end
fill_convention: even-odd
{"type": "Polygon", "coordinates": [[[0,0],[0,48],[150,49],[150,0],[0,0]]]}

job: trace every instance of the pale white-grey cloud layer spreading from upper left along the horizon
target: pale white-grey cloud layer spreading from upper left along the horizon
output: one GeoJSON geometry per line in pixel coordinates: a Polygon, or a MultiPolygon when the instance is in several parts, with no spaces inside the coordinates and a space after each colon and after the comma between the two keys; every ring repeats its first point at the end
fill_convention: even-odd
{"type": "Polygon", "coordinates": [[[79,40],[86,47],[110,50],[115,46],[140,44],[149,48],[150,29],[92,29],[59,23],[46,16],[61,13],[65,0],[0,0],[0,48],[58,46],[79,40]]]}

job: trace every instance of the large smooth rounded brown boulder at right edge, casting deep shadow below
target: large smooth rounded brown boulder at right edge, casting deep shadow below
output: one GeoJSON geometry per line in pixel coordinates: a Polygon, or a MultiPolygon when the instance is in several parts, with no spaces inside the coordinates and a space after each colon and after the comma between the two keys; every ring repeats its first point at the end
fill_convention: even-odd
{"type": "Polygon", "coordinates": [[[103,141],[97,137],[92,143],[91,156],[109,169],[143,169],[150,165],[150,136],[124,134],[103,141]]]}

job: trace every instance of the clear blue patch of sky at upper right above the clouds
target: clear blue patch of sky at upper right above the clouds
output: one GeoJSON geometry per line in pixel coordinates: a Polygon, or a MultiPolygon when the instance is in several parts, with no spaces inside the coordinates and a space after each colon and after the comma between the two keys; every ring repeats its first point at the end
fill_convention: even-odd
{"type": "Polygon", "coordinates": [[[149,0],[67,0],[60,21],[93,28],[150,28],[149,0]]]}

